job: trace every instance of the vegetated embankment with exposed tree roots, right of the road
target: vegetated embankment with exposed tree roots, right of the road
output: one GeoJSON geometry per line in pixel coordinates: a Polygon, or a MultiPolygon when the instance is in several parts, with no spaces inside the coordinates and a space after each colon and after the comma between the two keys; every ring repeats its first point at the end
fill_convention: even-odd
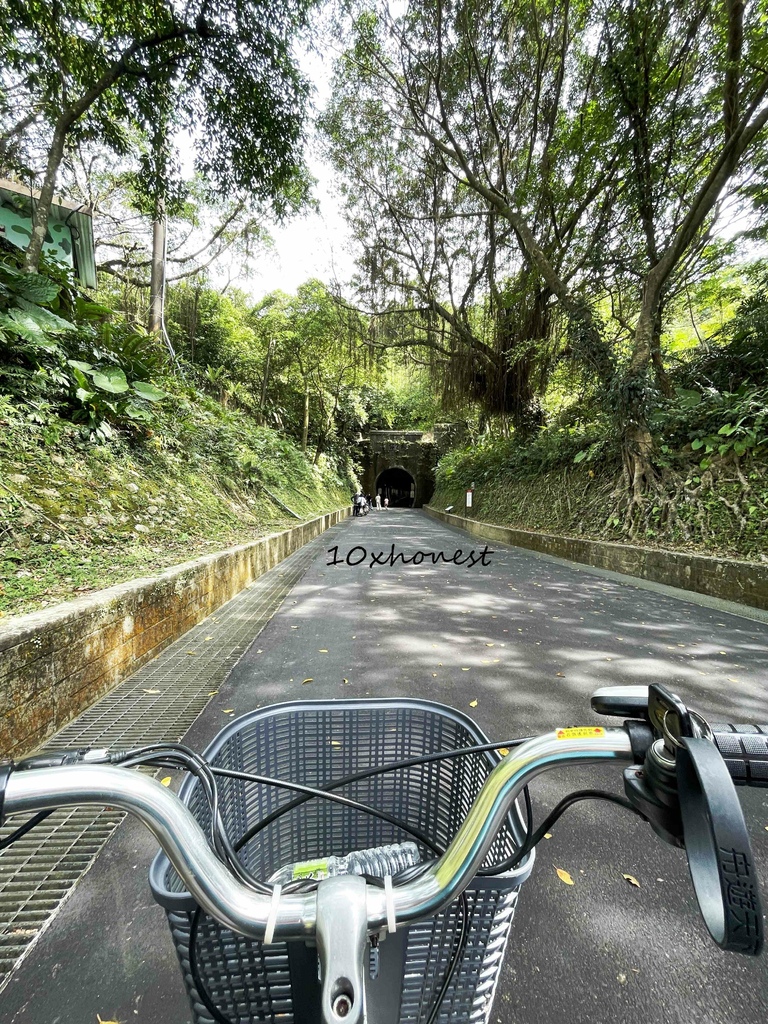
{"type": "MultiPolygon", "coordinates": [[[[514,461],[514,459],[510,460],[514,461]]],[[[768,561],[768,465],[678,460],[630,515],[620,465],[560,465],[538,474],[506,468],[498,449],[452,453],[431,500],[464,515],[474,481],[472,518],[518,529],[640,544],[675,551],[768,561]]]]}

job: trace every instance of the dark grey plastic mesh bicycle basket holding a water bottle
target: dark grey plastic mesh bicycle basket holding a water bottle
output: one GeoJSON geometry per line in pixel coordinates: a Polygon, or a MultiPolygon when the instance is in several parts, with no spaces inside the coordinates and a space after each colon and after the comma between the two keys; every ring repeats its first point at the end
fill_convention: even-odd
{"type": "MultiPolygon", "coordinates": [[[[234,720],[206,756],[220,767],[322,786],[369,767],[484,742],[487,739],[471,719],[430,701],[307,700],[275,705],[234,720]]],[[[444,848],[498,761],[496,753],[433,761],[375,775],[341,792],[388,811],[444,848]]],[[[219,781],[222,816],[233,840],[295,796],[237,779],[219,781]]],[[[196,779],[185,780],[180,797],[208,827],[208,805],[196,779]]],[[[243,848],[241,857],[266,880],[279,867],[297,860],[343,856],[410,839],[380,818],[331,801],[311,800],[259,833],[243,848]]],[[[519,840],[520,829],[509,817],[485,866],[507,857],[519,840]]],[[[425,849],[421,853],[432,856],[425,849]]],[[[514,871],[478,876],[467,889],[468,941],[442,1002],[441,1024],[487,1021],[517,895],[531,863],[532,855],[514,871]]],[[[189,968],[197,904],[163,853],[153,862],[150,883],[168,913],[195,1024],[213,1024],[189,968]]],[[[454,903],[436,918],[398,929],[380,944],[380,976],[370,983],[368,994],[372,1024],[424,1024],[457,942],[459,912],[459,904],[454,903]]],[[[301,941],[265,946],[220,927],[202,911],[198,918],[198,974],[227,1020],[232,1024],[314,1024],[313,950],[301,941]]]]}

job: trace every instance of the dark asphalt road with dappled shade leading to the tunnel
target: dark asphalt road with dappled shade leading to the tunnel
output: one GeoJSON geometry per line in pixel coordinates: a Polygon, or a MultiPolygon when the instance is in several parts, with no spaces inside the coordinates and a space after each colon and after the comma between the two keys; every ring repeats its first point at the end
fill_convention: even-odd
{"type": "MultiPolygon", "coordinates": [[[[712,720],[768,720],[763,623],[501,545],[485,566],[371,568],[370,553],[392,544],[406,555],[481,547],[410,510],[347,521],[325,541],[188,741],[208,742],[225,709],[367,695],[441,700],[510,737],[597,722],[594,688],[655,680],[712,720]],[[362,548],[369,557],[328,565],[333,546],[339,558],[352,548],[351,561],[362,548]]],[[[532,786],[537,815],[569,788],[618,791],[616,776],[603,767],[551,773],[532,786]]],[[[768,799],[753,791],[744,806],[768,882],[768,799]]],[[[121,826],[0,994],[1,1020],[189,1019],[163,914],[144,888],[153,850],[137,826],[121,826]]],[[[768,958],[723,954],[709,940],[679,851],[620,808],[566,812],[523,889],[494,1021],[763,1024],[767,1007],[768,958]]]]}

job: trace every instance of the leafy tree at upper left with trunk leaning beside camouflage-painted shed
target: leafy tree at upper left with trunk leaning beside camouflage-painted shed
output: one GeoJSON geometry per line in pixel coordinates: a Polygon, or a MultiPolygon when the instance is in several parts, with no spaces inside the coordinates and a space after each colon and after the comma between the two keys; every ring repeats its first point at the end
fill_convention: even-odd
{"type": "MultiPolygon", "coordinates": [[[[38,266],[61,160],[83,140],[124,154],[131,129],[156,146],[185,129],[198,170],[220,195],[242,190],[279,211],[300,202],[307,83],[291,44],[310,4],[9,0],[0,23],[0,160],[29,173],[38,144],[45,164],[28,269],[38,266]],[[172,97],[172,110],[159,96],[172,97]]],[[[172,160],[156,160],[156,185],[172,170],[172,160]]]]}

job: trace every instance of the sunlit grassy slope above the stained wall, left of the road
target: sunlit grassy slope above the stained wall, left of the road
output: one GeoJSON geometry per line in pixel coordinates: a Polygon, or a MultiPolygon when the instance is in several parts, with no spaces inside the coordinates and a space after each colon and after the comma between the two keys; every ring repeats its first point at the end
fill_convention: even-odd
{"type": "Polygon", "coordinates": [[[85,439],[0,413],[0,615],[79,597],[339,508],[349,485],[178,381],[152,431],[85,439]],[[270,497],[273,496],[273,497],[270,497]],[[275,501],[274,499],[278,499],[275,501]]]}

